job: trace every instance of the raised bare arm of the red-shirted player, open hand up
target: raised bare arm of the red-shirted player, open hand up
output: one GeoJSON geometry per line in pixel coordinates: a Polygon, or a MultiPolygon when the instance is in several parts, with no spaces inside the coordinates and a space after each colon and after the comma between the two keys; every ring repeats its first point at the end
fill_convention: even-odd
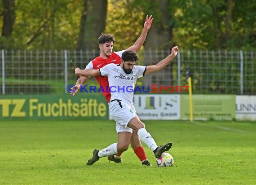
{"type": "Polygon", "coordinates": [[[141,32],[141,35],[139,36],[139,38],[136,40],[136,42],[130,46],[129,48],[127,48],[126,50],[132,50],[137,52],[138,50],[140,50],[142,44],[144,43],[144,41],[146,40],[146,36],[147,33],[151,27],[151,24],[153,22],[152,15],[150,15],[150,17],[147,15],[146,20],[144,22],[144,26],[143,26],[143,30],[141,32]]]}

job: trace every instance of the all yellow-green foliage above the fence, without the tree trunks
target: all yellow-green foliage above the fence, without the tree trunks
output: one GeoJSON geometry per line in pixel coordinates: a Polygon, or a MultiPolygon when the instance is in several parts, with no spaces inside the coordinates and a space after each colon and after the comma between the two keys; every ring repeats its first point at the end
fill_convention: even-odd
{"type": "MultiPolygon", "coordinates": [[[[164,23],[163,29],[174,25],[172,43],[183,49],[255,49],[256,0],[232,1],[230,30],[226,27],[227,2],[172,0],[166,7],[172,18],[164,23]]],[[[75,49],[82,3],[81,0],[17,0],[13,35],[0,38],[0,48],[75,49]]],[[[163,24],[163,12],[156,8],[161,3],[163,0],[108,0],[105,32],[115,36],[115,50],[134,43],[146,15],[153,15],[152,26],[163,24]]],[[[3,11],[2,2],[0,10],[3,11]]],[[[2,20],[0,16],[0,27],[2,20]]]]}

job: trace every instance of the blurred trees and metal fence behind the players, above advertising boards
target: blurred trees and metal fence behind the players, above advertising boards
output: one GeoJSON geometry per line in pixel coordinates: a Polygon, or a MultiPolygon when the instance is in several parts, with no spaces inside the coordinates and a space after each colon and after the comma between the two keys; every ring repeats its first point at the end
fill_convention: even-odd
{"type": "Polygon", "coordinates": [[[180,51],[138,85],[187,85],[190,70],[195,94],[256,94],[256,0],[0,0],[0,94],[68,94],[101,33],[126,49],[146,15],[154,21],[138,64],[180,51]]]}

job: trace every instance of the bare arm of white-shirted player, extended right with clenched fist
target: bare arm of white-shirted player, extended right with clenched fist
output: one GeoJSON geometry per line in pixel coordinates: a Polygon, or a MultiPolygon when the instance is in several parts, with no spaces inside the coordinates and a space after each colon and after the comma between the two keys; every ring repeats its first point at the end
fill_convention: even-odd
{"type": "Polygon", "coordinates": [[[153,66],[147,66],[145,74],[154,73],[157,71],[162,70],[166,66],[168,66],[169,63],[172,62],[172,60],[177,56],[177,53],[179,51],[178,46],[175,46],[172,48],[172,53],[169,54],[166,58],[164,58],[162,61],[158,62],[156,65],[153,66]]]}

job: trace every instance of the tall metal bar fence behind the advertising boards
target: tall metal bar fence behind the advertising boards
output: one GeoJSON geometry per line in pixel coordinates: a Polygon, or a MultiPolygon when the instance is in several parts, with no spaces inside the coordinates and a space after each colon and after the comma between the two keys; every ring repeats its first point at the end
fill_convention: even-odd
{"type": "MultiPolygon", "coordinates": [[[[0,51],[0,94],[63,94],[75,84],[74,69],[84,68],[98,51],[0,51]]],[[[137,65],[152,65],[167,50],[143,51],[137,65]]],[[[193,93],[256,94],[255,51],[179,51],[164,70],[142,79],[143,85],[187,85],[192,74],[193,93]]],[[[93,79],[90,79],[90,81],[93,79]]]]}

